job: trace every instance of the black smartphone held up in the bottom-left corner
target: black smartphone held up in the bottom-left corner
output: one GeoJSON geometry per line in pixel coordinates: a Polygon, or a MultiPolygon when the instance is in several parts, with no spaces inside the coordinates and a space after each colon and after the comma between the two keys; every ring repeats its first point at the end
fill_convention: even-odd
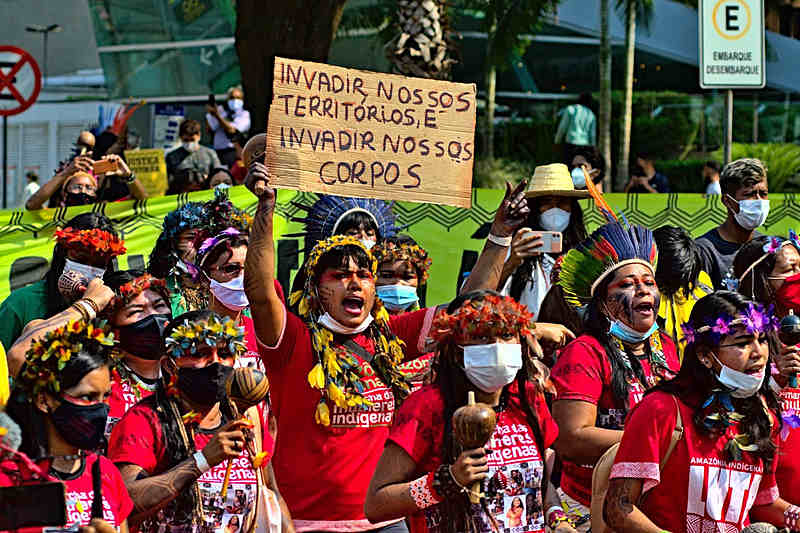
{"type": "Polygon", "coordinates": [[[67,523],[65,491],[65,485],[55,481],[0,487],[0,530],[63,527],[67,523]]]}

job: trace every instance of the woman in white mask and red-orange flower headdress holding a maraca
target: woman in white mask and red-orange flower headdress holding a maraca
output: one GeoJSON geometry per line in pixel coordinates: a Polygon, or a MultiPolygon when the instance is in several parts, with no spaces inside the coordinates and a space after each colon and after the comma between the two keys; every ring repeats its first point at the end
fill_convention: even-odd
{"type": "Polygon", "coordinates": [[[364,504],[370,520],[407,516],[412,533],[524,533],[543,532],[546,515],[551,531],[574,531],[545,467],[558,426],[534,385],[546,376],[531,353],[531,319],[494,291],[463,294],[437,317],[436,378],[397,413],[364,504]],[[497,425],[485,447],[464,450],[452,418],[468,392],[494,408],[497,425]],[[465,487],[484,480],[486,498],[470,504],[465,487]],[[523,511],[536,519],[523,525],[523,511]]]}

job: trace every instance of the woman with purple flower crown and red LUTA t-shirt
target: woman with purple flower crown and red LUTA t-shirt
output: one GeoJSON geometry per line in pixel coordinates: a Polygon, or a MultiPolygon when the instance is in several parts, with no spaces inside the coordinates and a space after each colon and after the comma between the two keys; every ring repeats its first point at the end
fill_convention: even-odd
{"type": "Polygon", "coordinates": [[[738,293],[718,291],[695,304],[680,372],[625,425],[605,500],[612,529],[739,531],[750,519],[798,528],[800,509],[778,496],[775,483],[780,407],[767,334],[776,327],[771,309],[738,293]],[[683,436],[667,457],[679,416],[683,436]]]}

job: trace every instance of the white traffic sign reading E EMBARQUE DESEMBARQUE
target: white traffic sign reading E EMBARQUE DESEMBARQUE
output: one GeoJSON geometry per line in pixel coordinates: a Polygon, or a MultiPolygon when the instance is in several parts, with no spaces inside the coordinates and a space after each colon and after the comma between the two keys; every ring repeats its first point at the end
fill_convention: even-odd
{"type": "Polygon", "coordinates": [[[701,0],[699,7],[700,86],[764,87],[763,0],[701,0]]]}

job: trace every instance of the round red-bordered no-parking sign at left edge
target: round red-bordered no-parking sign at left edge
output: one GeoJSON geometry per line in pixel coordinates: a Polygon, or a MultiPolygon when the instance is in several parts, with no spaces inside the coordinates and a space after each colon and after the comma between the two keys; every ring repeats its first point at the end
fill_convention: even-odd
{"type": "Polygon", "coordinates": [[[16,46],[0,46],[0,116],[28,109],[41,88],[42,75],[33,56],[16,46]]]}

